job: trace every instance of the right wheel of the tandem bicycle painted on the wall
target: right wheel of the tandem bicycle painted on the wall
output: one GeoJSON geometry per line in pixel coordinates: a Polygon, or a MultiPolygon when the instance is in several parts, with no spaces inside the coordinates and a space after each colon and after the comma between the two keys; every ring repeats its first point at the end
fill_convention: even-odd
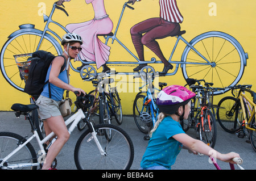
{"type": "MultiPolygon", "coordinates": [[[[246,66],[247,53],[234,37],[224,32],[207,32],[195,37],[189,43],[200,52],[212,65],[205,64],[198,53],[187,45],[181,57],[183,77],[205,79],[215,87],[228,87],[238,83],[246,66]]],[[[225,91],[228,91],[226,89],[225,91]]],[[[220,91],[214,95],[222,94],[220,91]]]]}

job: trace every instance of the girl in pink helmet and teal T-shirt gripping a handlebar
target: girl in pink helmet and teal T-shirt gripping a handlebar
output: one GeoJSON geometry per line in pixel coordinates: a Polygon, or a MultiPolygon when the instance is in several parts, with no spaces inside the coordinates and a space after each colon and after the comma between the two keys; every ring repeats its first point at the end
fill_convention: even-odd
{"type": "Polygon", "coordinates": [[[179,123],[188,119],[191,111],[191,99],[195,93],[183,86],[168,86],[159,92],[156,105],[160,114],[150,132],[150,141],[141,161],[141,169],[167,170],[174,165],[177,154],[182,148],[194,154],[202,153],[216,156],[221,161],[234,163],[231,159],[240,157],[237,153],[221,154],[200,140],[185,134],[179,123]]]}

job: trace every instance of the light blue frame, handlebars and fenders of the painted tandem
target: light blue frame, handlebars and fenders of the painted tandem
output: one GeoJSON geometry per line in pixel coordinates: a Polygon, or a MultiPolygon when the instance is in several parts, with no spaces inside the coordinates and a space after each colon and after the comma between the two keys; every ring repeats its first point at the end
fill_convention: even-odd
{"type": "MultiPolygon", "coordinates": [[[[144,61],[140,61],[139,58],[137,56],[135,56],[135,54],[133,52],[131,52],[131,50],[129,50],[129,48],[127,48],[125,46],[125,44],[123,44],[117,38],[117,31],[118,31],[118,28],[119,28],[119,26],[121,24],[121,19],[122,19],[122,16],[123,16],[123,13],[124,13],[126,7],[129,7],[129,9],[131,9],[131,10],[134,9],[133,7],[127,5],[127,2],[125,2],[124,5],[123,5],[122,11],[121,11],[121,15],[119,17],[119,20],[118,20],[118,23],[117,23],[117,27],[115,28],[114,33],[112,33],[112,35],[103,35],[103,36],[105,37],[105,40],[106,40],[105,44],[108,44],[110,39],[112,39],[112,44],[114,43],[114,41],[117,41],[117,43],[119,45],[121,45],[121,47],[123,47],[135,59],[135,61],[107,61],[106,64],[113,64],[113,65],[137,64],[137,65],[139,65],[139,64],[144,64],[145,63],[144,61]]],[[[49,28],[49,24],[53,23],[56,26],[60,27],[65,32],[68,32],[68,30],[64,26],[62,26],[60,23],[57,23],[54,20],[52,20],[53,12],[55,12],[56,9],[59,9],[59,10],[63,11],[68,16],[68,13],[67,13],[67,11],[65,11],[64,8],[62,8],[60,6],[57,6],[56,3],[54,3],[53,7],[52,7],[52,11],[49,14],[49,16],[47,16],[45,14],[43,15],[44,22],[46,22],[46,25],[45,25],[43,31],[35,29],[34,24],[23,24],[23,25],[19,26],[20,30],[17,30],[15,32],[11,33],[11,35],[9,36],[9,40],[8,41],[12,41],[13,39],[15,39],[16,36],[19,36],[19,35],[24,35],[26,33],[28,33],[28,34],[36,33],[36,34],[39,34],[40,36],[42,35],[40,37],[40,41],[39,41],[39,44],[37,45],[36,50],[40,49],[40,46],[43,43],[43,39],[47,39],[47,40],[49,40],[53,44],[53,47],[56,49],[57,54],[61,54],[63,52],[63,49],[62,49],[61,45],[59,44],[59,41],[61,41],[61,37],[59,35],[57,35],[57,33],[55,31],[53,31],[53,30],[51,30],[49,28]]],[[[239,60],[240,68],[238,69],[239,70],[238,74],[234,78],[234,81],[230,83],[230,85],[225,85],[225,86],[233,86],[238,81],[240,81],[240,79],[242,77],[242,74],[243,74],[243,71],[244,71],[244,67],[247,64],[248,55],[247,55],[247,53],[244,52],[242,46],[240,45],[240,43],[236,39],[234,39],[234,37],[232,37],[232,36],[230,36],[230,35],[228,35],[227,33],[224,33],[224,32],[210,31],[210,32],[205,32],[205,33],[203,33],[203,34],[201,34],[199,36],[196,36],[194,39],[192,39],[190,42],[188,42],[181,35],[182,35],[182,33],[180,35],[175,36],[177,38],[177,40],[176,40],[176,43],[175,43],[175,45],[174,45],[174,47],[172,49],[171,55],[168,58],[168,61],[170,62],[170,64],[176,64],[176,67],[175,67],[175,69],[174,69],[174,71],[172,73],[167,73],[166,76],[167,75],[175,75],[177,73],[177,70],[178,70],[179,66],[180,66],[180,68],[183,71],[184,78],[188,78],[189,76],[192,76],[192,75],[188,75],[187,74],[187,70],[186,70],[187,66],[186,65],[209,65],[210,68],[217,67],[216,62],[209,61],[206,57],[203,56],[203,54],[201,54],[194,47],[194,45],[198,41],[201,41],[201,40],[206,39],[208,37],[220,37],[221,39],[229,41],[229,43],[232,44],[234,46],[234,48],[237,50],[237,53],[239,55],[238,57],[240,57],[240,60],[239,60]],[[183,53],[181,55],[181,60],[179,60],[179,61],[172,61],[172,57],[174,56],[175,50],[176,50],[177,45],[179,44],[180,41],[183,41],[185,43],[185,45],[186,45],[186,47],[185,47],[185,49],[184,49],[184,51],[183,51],[183,53]],[[191,61],[187,60],[187,55],[188,55],[188,53],[190,51],[195,52],[196,54],[198,54],[202,58],[202,60],[205,61],[205,62],[191,62],[191,61]]],[[[8,45],[8,43],[9,43],[8,41],[7,41],[7,44],[4,45],[4,47],[2,48],[1,61],[3,59],[3,54],[5,53],[5,49],[6,49],[7,45],[8,45]]],[[[30,52],[30,53],[32,53],[32,52],[30,52]]],[[[89,66],[90,64],[96,64],[95,62],[86,62],[84,60],[81,60],[80,57],[78,57],[78,58],[79,58],[79,61],[81,61],[85,65],[89,66]]],[[[156,61],[156,58],[153,57],[153,58],[151,58],[151,61],[146,61],[146,63],[147,64],[162,64],[162,61],[156,61]]],[[[77,70],[76,68],[74,68],[74,66],[72,65],[71,62],[70,62],[70,65],[71,65],[71,69],[73,71],[81,73],[80,70],[77,70]]],[[[92,66],[92,68],[93,68],[93,66],[92,66]]],[[[152,69],[154,70],[154,68],[152,68],[152,69]]],[[[15,85],[15,83],[13,83],[11,81],[11,79],[8,77],[8,75],[5,72],[5,66],[3,65],[3,62],[1,62],[1,70],[2,70],[2,74],[6,78],[7,82],[9,82],[16,89],[23,91],[22,87],[19,87],[18,85],[15,85]]],[[[120,72],[120,74],[138,74],[138,72],[131,72],[131,73],[130,72],[122,72],[122,73],[120,72]]],[[[228,91],[228,90],[225,90],[225,91],[228,91]]],[[[219,94],[219,92],[214,92],[214,94],[219,94]]]]}

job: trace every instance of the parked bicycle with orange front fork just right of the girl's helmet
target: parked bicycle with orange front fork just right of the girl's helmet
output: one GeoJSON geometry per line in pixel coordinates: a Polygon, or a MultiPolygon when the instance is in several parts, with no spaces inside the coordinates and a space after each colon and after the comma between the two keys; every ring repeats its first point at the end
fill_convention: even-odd
{"type": "Polygon", "coordinates": [[[217,139],[216,119],[213,107],[213,92],[224,90],[214,88],[213,83],[205,82],[204,79],[186,79],[187,85],[196,93],[191,100],[191,114],[188,120],[181,120],[180,124],[184,131],[194,128],[199,134],[199,139],[214,148],[217,139]],[[205,86],[201,85],[205,82],[205,86]],[[196,85],[197,83],[197,85],[196,85]]]}

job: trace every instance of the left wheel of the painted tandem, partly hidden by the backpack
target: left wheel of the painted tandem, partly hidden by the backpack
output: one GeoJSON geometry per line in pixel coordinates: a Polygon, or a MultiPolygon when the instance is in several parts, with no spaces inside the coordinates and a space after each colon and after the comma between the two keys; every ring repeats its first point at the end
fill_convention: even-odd
{"type": "Polygon", "coordinates": [[[54,42],[53,37],[48,34],[44,36],[42,44],[37,49],[42,33],[39,30],[20,32],[15,36],[9,36],[9,40],[3,45],[0,56],[1,71],[6,81],[15,89],[24,91],[25,83],[24,78],[20,75],[14,56],[23,54],[18,58],[18,62],[26,62],[31,60],[31,57],[26,54],[33,53],[36,50],[46,50],[56,56],[61,54],[61,50],[54,42]]]}

